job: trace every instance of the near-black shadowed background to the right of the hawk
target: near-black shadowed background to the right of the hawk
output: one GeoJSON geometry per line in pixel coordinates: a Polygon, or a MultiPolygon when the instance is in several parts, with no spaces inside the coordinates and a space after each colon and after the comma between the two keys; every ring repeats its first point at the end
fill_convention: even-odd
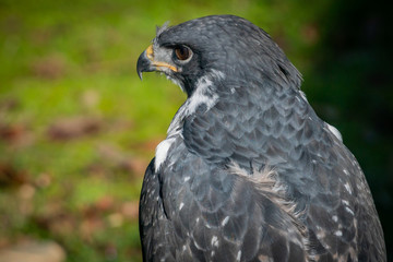
{"type": "Polygon", "coordinates": [[[336,1],[321,17],[321,46],[305,88],[322,119],[336,126],[371,188],[393,253],[393,31],[382,1],[336,1]]]}

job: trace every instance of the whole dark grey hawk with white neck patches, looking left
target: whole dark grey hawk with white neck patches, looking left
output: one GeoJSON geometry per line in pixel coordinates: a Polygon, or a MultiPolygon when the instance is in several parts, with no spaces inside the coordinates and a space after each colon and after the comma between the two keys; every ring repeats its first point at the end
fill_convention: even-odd
{"type": "Polygon", "coordinates": [[[136,70],[187,94],[144,176],[144,261],[386,261],[357,160],[264,31],[234,15],[165,25],[136,70]]]}

